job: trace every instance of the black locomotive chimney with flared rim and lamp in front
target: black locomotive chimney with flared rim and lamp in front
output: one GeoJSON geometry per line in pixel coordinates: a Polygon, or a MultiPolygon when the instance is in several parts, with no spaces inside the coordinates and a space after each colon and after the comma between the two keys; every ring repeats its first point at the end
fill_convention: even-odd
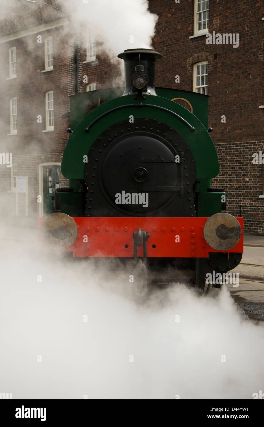
{"type": "Polygon", "coordinates": [[[125,91],[124,95],[142,94],[156,95],[155,91],[155,61],[162,58],[161,53],[153,49],[127,49],[119,53],[118,58],[125,62],[125,91]]]}

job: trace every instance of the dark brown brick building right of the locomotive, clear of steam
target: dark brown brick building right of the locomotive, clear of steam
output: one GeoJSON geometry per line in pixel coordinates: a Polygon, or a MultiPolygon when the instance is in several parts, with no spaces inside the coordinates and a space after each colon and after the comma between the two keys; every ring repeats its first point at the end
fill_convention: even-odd
{"type": "Polygon", "coordinates": [[[209,126],[220,164],[211,186],[225,188],[227,212],[238,216],[242,206],[247,232],[264,234],[264,156],[263,164],[252,164],[253,153],[264,154],[264,3],[151,0],[149,5],[159,16],[153,47],[163,55],[156,85],[209,95],[209,126]],[[238,47],[206,44],[206,34],[214,31],[215,42],[218,33],[234,34],[238,47]],[[203,64],[207,88],[197,88],[195,74],[197,67],[202,74],[203,64]]]}

